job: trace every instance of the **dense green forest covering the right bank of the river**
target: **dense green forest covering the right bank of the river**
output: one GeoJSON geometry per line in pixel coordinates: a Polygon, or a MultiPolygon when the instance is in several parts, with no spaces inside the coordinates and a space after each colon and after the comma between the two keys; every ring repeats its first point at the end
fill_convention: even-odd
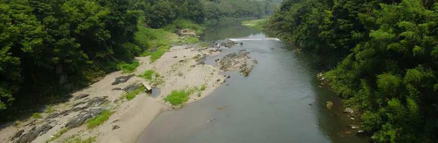
{"type": "Polygon", "coordinates": [[[377,142],[438,140],[438,3],[286,0],[269,28],[312,54],[377,142]]]}

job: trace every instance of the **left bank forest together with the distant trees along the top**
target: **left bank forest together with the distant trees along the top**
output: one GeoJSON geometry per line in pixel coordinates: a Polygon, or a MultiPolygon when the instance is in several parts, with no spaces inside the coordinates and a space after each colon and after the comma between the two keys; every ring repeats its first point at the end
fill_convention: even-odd
{"type": "Polygon", "coordinates": [[[36,104],[62,101],[63,95],[118,70],[118,64],[155,50],[148,44],[153,37],[135,36],[138,25],[259,18],[273,13],[276,2],[0,0],[0,121],[36,104]]]}

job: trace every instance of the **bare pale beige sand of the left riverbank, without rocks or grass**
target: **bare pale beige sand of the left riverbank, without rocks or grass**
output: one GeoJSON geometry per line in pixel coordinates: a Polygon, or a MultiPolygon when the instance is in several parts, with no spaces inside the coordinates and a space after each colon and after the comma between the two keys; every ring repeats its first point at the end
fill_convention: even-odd
{"type": "MultiPolygon", "coordinates": [[[[157,97],[150,97],[149,94],[137,95],[132,100],[119,100],[125,91],[113,90],[114,88],[125,88],[129,85],[141,82],[147,82],[142,78],[133,77],[125,83],[112,85],[115,78],[126,76],[121,71],[109,74],[99,82],[90,85],[87,88],[72,93],[72,98],[64,103],[53,106],[55,113],[62,113],[56,117],[48,118],[52,114],[41,113],[42,118],[28,119],[26,121],[16,122],[15,124],[6,125],[0,130],[0,142],[13,142],[11,140],[20,130],[24,130],[23,134],[30,131],[41,129],[43,125],[48,125],[50,128],[44,128],[41,133],[36,133],[37,136],[32,142],[46,142],[51,137],[55,136],[65,124],[88,111],[91,108],[102,108],[114,111],[114,114],[108,121],[102,125],[87,129],[83,124],[79,127],[71,128],[59,138],[52,142],[64,142],[68,138],[79,137],[88,138],[96,137],[96,142],[135,142],[142,131],[162,112],[173,110],[173,107],[163,98],[172,92],[172,90],[181,90],[188,87],[206,85],[206,90],[202,91],[201,96],[190,95],[188,104],[193,101],[200,100],[209,95],[215,88],[220,86],[225,77],[220,75],[220,69],[213,65],[199,64],[195,57],[198,55],[215,55],[218,54],[215,48],[206,48],[200,46],[186,45],[172,47],[169,52],[166,52],[160,59],[150,63],[149,57],[137,57],[140,66],[137,67],[135,75],[143,73],[145,70],[153,69],[162,75],[164,83],[158,85],[161,89],[157,97]],[[75,97],[81,94],[89,94],[86,98],[75,100],[75,97]],[[90,99],[97,97],[105,97],[105,102],[99,102],[96,106],[91,106],[89,109],[75,111],[78,104],[87,103],[90,99]],[[118,128],[114,129],[117,126],[118,128]]],[[[94,104],[93,104],[94,105],[94,104]]],[[[178,108],[178,107],[176,107],[178,108]]],[[[29,134],[28,134],[29,135],[29,134]]],[[[21,135],[21,137],[24,135],[21,135]]],[[[19,138],[19,137],[18,137],[19,138]]],[[[17,140],[14,139],[15,141],[17,140]]]]}

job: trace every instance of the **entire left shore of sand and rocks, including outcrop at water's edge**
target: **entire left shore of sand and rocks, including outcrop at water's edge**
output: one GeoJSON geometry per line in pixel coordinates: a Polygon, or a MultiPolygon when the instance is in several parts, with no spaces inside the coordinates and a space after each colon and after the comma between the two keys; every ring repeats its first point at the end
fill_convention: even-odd
{"type": "Polygon", "coordinates": [[[226,55],[217,61],[218,66],[206,65],[200,60],[237,44],[223,40],[207,46],[174,46],[154,63],[149,62],[149,57],[137,57],[141,64],[134,74],[117,71],[90,87],[66,95],[65,102],[53,105],[51,113],[7,125],[0,130],[0,142],[63,142],[72,137],[96,137],[96,142],[135,142],[156,116],[172,110],[173,106],[163,98],[173,90],[206,85],[201,96],[190,95],[185,103],[188,104],[204,98],[229,78],[220,75],[221,71],[238,71],[242,76],[248,76],[257,61],[246,51],[226,55]],[[163,75],[163,83],[154,87],[160,88],[160,94],[153,98],[149,93],[143,93],[133,100],[121,97],[139,88],[133,85],[151,84],[136,76],[149,69],[163,75]],[[114,113],[102,125],[88,129],[86,121],[103,111],[114,113]]]}

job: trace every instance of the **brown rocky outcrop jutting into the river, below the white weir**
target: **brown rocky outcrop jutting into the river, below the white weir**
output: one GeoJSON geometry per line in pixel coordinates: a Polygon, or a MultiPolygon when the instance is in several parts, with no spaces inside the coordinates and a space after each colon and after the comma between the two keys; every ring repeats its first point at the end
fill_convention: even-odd
{"type": "Polygon", "coordinates": [[[228,54],[219,60],[218,65],[225,71],[238,70],[240,75],[246,77],[257,63],[257,61],[251,59],[248,54],[248,52],[228,54]]]}

